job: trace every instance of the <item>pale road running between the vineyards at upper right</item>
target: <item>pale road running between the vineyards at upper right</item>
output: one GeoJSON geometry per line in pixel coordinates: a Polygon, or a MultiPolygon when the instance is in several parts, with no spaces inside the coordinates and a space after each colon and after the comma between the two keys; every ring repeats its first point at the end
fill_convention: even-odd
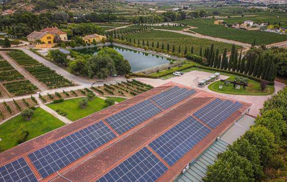
{"type": "Polygon", "coordinates": [[[166,32],[174,32],[174,33],[179,33],[179,34],[183,34],[183,35],[189,35],[189,36],[193,36],[193,37],[197,37],[197,38],[205,38],[205,39],[214,40],[214,41],[218,41],[218,42],[230,43],[230,44],[240,45],[242,47],[251,48],[251,44],[249,44],[249,43],[243,43],[243,42],[239,42],[239,41],[235,41],[235,40],[229,40],[229,39],[224,39],[224,38],[219,38],[219,37],[212,37],[212,36],[208,36],[208,35],[201,35],[201,34],[198,34],[198,33],[193,34],[193,33],[183,32],[183,31],[178,31],[178,30],[165,30],[165,29],[154,29],[154,30],[160,30],[160,31],[166,31],[166,32]]]}

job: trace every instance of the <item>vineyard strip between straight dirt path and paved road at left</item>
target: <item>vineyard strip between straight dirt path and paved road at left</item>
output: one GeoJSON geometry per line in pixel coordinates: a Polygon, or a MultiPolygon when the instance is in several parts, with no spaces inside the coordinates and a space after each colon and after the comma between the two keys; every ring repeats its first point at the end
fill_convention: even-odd
{"type": "Polygon", "coordinates": [[[55,71],[51,70],[44,64],[39,63],[23,51],[11,51],[8,55],[50,89],[74,85],[71,81],[58,75],[55,71]]]}

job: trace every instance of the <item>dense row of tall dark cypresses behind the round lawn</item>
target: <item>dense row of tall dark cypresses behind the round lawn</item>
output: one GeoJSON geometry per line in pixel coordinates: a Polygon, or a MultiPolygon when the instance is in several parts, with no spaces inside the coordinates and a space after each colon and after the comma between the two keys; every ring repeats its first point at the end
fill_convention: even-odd
{"type": "Polygon", "coordinates": [[[256,48],[251,48],[247,55],[242,58],[242,50],[238,55],[235,45],[232,45],[230,58],[227,56],[227,49],[224,49],[222,57],[219,50],[214,50],[212,44],[210,49],[204,51],[204,57],[208,60],[210,67],[228,70],[233,72],[250,75],[268,81],[274,81],[277,72],[275,60],[270,52],[255,54],[256,48]]]}

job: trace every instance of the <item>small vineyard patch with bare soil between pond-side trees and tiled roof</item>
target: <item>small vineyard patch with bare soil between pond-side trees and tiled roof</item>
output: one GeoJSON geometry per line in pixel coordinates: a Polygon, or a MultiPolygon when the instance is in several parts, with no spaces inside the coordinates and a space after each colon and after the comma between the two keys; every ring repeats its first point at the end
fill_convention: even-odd
{"type": "Polygon", "coordinates": [[[121,96],[121,97],[133,97],[143,92],[146,92],[149,89],[152,89],[153,86],[141,83],[136,80],[127,82],[117,82],[116,84],[104,84],[104,86],[91,87],[95,92],[100,95],[105,96],[121,96]]]}

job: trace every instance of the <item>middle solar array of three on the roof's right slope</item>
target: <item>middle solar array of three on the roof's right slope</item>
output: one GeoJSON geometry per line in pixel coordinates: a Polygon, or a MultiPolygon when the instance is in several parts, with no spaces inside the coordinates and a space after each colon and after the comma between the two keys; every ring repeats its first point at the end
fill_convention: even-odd
{"type": "Polygon", "coordinates": [[[149,146],[172,166],[210,132],[209,128],[190,116],[162,134],[149,146]]]}

